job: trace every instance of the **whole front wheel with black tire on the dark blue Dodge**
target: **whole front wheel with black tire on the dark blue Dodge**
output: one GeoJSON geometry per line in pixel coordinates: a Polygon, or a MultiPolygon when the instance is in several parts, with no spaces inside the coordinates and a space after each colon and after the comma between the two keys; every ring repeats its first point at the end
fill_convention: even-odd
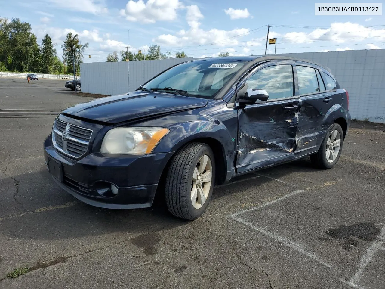
{"type": "Polygon", "coordinates": [[[172,156],[168,168],[165,195],[169,211],[187,220],[200,217],[208,206],[214,183],[211,148],[204,143],[186,144],[172,156]]]}

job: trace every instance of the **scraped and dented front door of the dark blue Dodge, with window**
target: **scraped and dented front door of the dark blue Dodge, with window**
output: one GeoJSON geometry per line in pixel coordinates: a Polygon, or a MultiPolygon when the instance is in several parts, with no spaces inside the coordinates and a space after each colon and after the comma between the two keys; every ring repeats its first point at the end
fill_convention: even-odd
{"type": "Polygon", "coordinates": [[[258,66],[238,83],[238,173],[294,159],[300,110],[294,87],[291,61],[258,66]],[[268,100],[251,102],[250,89],[266,91],[268,100]]]}

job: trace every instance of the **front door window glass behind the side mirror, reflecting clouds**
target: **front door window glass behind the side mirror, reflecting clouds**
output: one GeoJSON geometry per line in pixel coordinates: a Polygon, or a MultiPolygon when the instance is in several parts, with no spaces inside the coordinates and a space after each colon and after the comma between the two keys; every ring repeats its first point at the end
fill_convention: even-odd
{"type": "Polygon", "coordinates": [[[293,96],[293,67],[291,65],[268,66],[255,72],[247,81],[249,88],[264,89],[269,99],[293,96]]]}

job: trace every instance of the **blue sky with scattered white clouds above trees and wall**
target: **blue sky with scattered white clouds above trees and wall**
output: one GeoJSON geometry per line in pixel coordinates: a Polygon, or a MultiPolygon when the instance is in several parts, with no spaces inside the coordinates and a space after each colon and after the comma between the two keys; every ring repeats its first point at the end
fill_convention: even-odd
{"type": "Polygon", "coordinates": [[[189,57],[264,54],[268,24],[277,53],[385,48],[384,16],[315,16],[310,1],[0,0],[0,7],[0,17],[29,22],[39,42],[48,33],[59,56],[65,35],[78,33],[89,42],[85,62],[126,50],[127,29],[133,52],[159,44],[189,57]]]}

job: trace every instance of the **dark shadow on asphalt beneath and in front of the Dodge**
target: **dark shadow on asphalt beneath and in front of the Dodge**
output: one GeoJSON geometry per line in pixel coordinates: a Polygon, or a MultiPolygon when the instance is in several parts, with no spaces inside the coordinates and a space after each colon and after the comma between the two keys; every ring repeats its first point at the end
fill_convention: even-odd
{"type": "MultiPolygon", "coordinates": [[[[297,172],[316,170],[311,167],[309,161],[301,160],[260,172],[266,174],[278,169],[280,176],[293,173],[293,170],[297,172]]],[[[244,178],[243,189],[272,181],[263,177],[247,180],[252,176],[256,175],[244,175],[235,181],[244,178]]],[[[110,210],[87,205],[70,196],[54,183],[44,165],[37,172],[15,176],[15,180],[19,180],[17,199],[24,205],[25,212],[0,218],[0,231],[12,238],[61,240],[115,232],[136,234],[171,229],[188,223],[168,212],[161,194],[156,196],[150,208],[110,210]],[[37,205],[28,207],[28,200],[31,198],[40,198],[43,203],[38,203],[39,207],[36,207],[37,205]]],[[[214,188],[212,198],[221,198],[237,192],[236,184],[227,186],[226,190],[214,188]]]]}

